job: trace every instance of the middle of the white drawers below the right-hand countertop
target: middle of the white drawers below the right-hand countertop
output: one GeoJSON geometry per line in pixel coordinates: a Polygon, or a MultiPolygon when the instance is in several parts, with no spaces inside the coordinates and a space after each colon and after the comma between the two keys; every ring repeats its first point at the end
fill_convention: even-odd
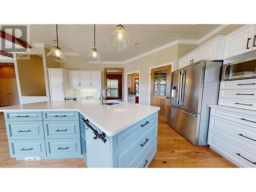
{"type": "Polygon", "coordinates": [[[209,131],[216,132],[230,140],[236,140],[256,154],[256,129],[240,123],[210,116],[209,131]]]}

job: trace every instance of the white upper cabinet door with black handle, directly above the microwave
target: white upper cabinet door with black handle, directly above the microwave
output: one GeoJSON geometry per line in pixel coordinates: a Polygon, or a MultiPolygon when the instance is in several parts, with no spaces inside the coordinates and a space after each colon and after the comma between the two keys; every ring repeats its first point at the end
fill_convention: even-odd
{"type": "Polygon", "coordinates": [[[225,40],[224,59],[252,50],[255,25],[225,40]]]}

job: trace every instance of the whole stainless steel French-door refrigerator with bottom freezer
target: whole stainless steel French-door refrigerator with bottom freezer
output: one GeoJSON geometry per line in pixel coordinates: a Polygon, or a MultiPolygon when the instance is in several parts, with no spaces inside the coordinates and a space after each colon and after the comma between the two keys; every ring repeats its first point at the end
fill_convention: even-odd
{"type": "Polygon", "coordinates": [[[201,60],[172,73],[169,124],[194,145],[207,145],[209,104],[218,103],[222,61],[201,60]]]}

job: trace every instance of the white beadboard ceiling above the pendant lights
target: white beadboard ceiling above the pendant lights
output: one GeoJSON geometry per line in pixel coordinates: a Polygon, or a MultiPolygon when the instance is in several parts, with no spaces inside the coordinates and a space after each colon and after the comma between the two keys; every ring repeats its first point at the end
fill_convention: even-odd
{"type": "MultiPolygon", "coordinates": [[[[124,25],[131,38],[131,46],[116,50],[109,37],[116,25],[96,25],[96,48],[104,62],[124,62],[138,55],[164,46],[178,39],[199,40],[220,25],[124,25]],[[135,46],[140,42],[140,46],[135,46]]],[[[60,47],[66,53],[77,53],[88,59],[93,48],[93,25],[58,25],[60,47]]],[[[53,46],[55,25],[30,25],[30,43],[53,46]]]]}

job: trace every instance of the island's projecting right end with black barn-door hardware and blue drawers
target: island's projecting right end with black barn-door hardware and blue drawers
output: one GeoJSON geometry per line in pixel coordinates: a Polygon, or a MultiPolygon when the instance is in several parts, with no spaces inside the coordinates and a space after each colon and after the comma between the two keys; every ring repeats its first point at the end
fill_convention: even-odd
{"type": "Polygon", "coordinates": [[[148,167],[157,152],[158,112],[136,122],[124,131],[105,135],[86,117],[85,128],[88,167],[148,167]]]}

